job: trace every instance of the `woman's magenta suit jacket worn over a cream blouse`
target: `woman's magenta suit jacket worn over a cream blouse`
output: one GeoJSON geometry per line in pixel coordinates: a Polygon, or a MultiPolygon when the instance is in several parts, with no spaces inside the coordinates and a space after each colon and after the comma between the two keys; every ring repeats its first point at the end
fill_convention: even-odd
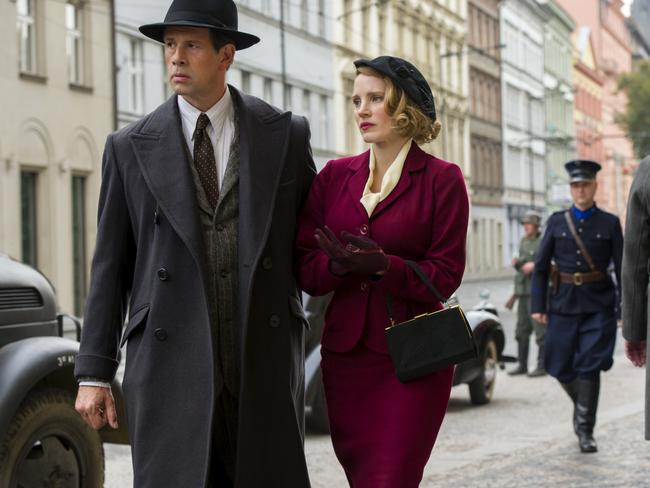
{"type": "Polygon", "coordinates": [[[313,296],[334,291],[322,338],[323,347],[334,352],[350,351],[360,341],[388,352],[388,294],[396,322],[441,308],[405,260],[416,261],[445,297],[458,288],[465,270],[469,201],[460,168],[413,143],[397,186],[368,218],[360,199],[369,154],[328,162],[298,221],[300,286],[313,296]],[[346,230],[375,240],[390,260],[386,273],[376,280],[330,273],[328,257],[314,238],[314,231],[325,225],[337,235],[346,230]]]}

